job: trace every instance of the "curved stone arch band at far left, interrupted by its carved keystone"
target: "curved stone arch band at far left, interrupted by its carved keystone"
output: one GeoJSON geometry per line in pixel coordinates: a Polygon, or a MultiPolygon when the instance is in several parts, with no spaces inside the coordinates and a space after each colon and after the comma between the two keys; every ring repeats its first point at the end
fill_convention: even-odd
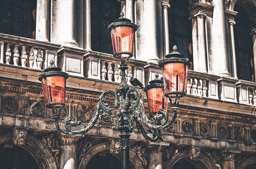
{"type": "MultiPolygon", "coordinates": [[[[0,137],[0,144],[8,142],[13,142],[11,134],[0,137]]],[[[20,147],[26,149],[35,158],[35,161],[41,169],[58,169],[55,158],[47,146],[32,135],[28,134],[26,136],[26,144],[20,147]]]]}

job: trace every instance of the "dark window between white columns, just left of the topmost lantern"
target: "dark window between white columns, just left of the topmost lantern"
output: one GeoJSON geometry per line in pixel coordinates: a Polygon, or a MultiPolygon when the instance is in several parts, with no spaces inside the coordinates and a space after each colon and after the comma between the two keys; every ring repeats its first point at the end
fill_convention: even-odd
{"type": "Polygon", "coordinates": [[[117,0],[91,1],[91,45],[93,51],[113,54],[108,25],[120,17],[121,4],[117,0]]]}

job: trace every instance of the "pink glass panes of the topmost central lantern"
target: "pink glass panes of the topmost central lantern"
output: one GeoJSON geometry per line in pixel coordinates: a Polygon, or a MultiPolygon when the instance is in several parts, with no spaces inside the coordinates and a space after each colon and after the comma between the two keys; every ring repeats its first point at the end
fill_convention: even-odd
{"type": "MultiPolygon", "coordinates": [[[[133,51],[134,29],[128,26],[119,26],[111,30],[111,38],[114,54],[116,52],[133,51]]],[[[128,58],[128,54],[122,54],[122,58],[128,58]]]]}

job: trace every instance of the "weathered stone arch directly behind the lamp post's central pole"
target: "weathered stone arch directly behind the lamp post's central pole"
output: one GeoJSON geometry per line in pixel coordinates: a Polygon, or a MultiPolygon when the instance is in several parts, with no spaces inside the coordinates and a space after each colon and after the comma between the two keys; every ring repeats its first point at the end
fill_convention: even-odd
{"type": "MultiPolygon", "coordinates": [[[[108,142],[96,144],[95,146],[90,148],[83,155],[81,162],[79,163],[78,169],[84,169],[84,167],[87,165],[87,163],[90,161],[90,159],[94,155],[96,155],[97,153],[102,152],[102,151],[109,151],[109,143],[108,142]]],[[[115,154],[111,154],[111,155],[114,155],[120,159],[120,155],[115,155],[115,154]]],[[[136,152],[134,152],[132,149],[130,149],[130,161],[136,169],[144,169],[143,163],[140,161],[140,158],[138,157],[136,152]]]]}

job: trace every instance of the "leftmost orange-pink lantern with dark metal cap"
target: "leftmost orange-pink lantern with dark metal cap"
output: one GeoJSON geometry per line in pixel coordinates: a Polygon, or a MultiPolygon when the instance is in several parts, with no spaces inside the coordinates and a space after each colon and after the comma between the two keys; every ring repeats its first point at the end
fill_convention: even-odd
{"type": "Polygon", "coordinates": [[[38,80],[42,82],[45,107],[59,110],[65,106],[66,79],[69,75],[62,72],[61,68],[54,66],[52,60],[50,65],[39,75],[38,80]]]}

